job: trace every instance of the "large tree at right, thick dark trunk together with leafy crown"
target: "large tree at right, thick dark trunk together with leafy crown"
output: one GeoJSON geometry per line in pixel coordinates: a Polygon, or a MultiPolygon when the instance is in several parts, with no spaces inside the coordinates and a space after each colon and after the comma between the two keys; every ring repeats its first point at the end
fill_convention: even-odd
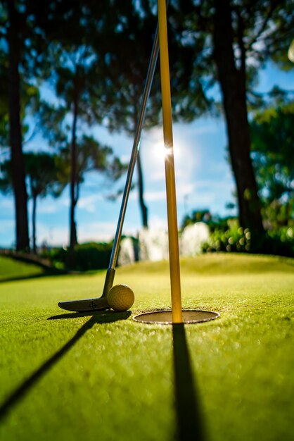
{"type": "Polygon", "coordinates": [[[188,85],[199,82],[216,110],[222,100],[240,223],[253,235],[262,235],[261,204],[250,160],[248,101],[253,106],[255,96],[250,92],[255,89],[258,69],[269,58],[293,68],[286,56],[293,8],[288,1],[269,0],[172,1],[172,6],[178,13],[170,9],[170,22],[176,24],[183,46],[194,48],[188,85]]]}

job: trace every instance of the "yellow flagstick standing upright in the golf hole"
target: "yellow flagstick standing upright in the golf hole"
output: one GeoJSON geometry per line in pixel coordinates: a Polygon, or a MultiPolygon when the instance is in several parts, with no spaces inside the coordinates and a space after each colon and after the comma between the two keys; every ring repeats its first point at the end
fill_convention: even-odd
{"type": "Polygon", "coordinates": [[[165,183],[167,189],[167,223],[170,249],[170,283],[172,292],[172,323],[183,323],[181,313],[181,280],[179,273],[179,240],[177,225],[176,184],[174,178],[174,149],[172,141],[172,102],[170,97],[170,66],[167,46],[166,0],[158,0],[160,48],[160,81],[162,94],[165,183]]]}

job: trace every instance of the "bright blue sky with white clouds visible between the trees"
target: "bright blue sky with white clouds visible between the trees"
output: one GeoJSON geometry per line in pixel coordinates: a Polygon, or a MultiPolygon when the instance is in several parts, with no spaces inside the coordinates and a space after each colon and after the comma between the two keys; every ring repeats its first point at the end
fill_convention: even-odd
{"type": "MultiPolygon", "coordinates": [[[[294,90],[294,71],[282,72],[272,65],[260,72],[258,89],[267,92],[273,85],[294,90]]],[[[177,211],[181,223],[193,209],[209,209],[212,213],[229,214],[226,203],[234,201],[234,179],[226,161],[226,129],[222,118],[200,118],[191,124],[174,124],[174,151],[177,179],[177,211]]],[[[128,162],[133,139],[124,133],[110,134],[105,128],[96,128],[101,142],[113,147],[115,154],[128,162]]],[[[37,146],[32,139],[27,149],[37,146]]],[[[151,228],[167,228],[165,202],[164,159],[160,153],[162,128],[143,131],[141,158],[144,173],[145,198],[151,228]]],[[[125,177],[119,182],[124,185],[125,177]]],[[[136,180],[136,170],[134,172],[136,180]]],[[[115,234],[121,198],[107,199],[110,182],[91,173],[84,182],[77,206],[78,240],[110,240],[115,234]]],[[[29,203],[29,212],[31,213],[29,203]]],[[[62,197],[39,200],[37,207],[37,242],[50,245],[68,244],[69,189],[62,197]]],[[[11,247],[15,240],[12,197],[0,194],[0,247],[11,247]]],[[[136,235],[141,229],[138,195],[133,190],[124,222],[124,234],[136,235]]],[[[30,231],[32,230],[30,225],[30,231]]]]}

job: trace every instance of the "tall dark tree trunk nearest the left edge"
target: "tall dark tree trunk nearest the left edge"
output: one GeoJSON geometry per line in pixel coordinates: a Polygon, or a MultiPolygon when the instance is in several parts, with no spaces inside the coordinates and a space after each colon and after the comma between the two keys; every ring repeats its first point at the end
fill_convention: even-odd
{"type": "Polygon", "coordinates": [[[18,13],[13,0],[7,0],[8,11],[8,106],[9,138],[11,144],[11,173],[15,201],[16,249],[30,250],[29,226],[27,220],[27,189],[25,186],[25,163],[23,160],[22,134],[20,125],[20,35],[18,13]]]}

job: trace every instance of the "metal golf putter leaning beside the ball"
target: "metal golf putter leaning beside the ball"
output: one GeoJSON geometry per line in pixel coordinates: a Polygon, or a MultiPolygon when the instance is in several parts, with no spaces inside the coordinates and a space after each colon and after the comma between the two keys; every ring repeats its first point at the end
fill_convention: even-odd
{"type": "Polygon", "coordinates": [[[136,125],[136,132],[134,136],[134,144],[131,154],[131,159],[129,161],[129,168],[127,171],[127,180],[124,186],[124,194],[122,196],[122,204],[120,207],[120,216],[117,222],[117,229],[115,232],[115,239],[113,242],[113,249],[111,251],[110,262],[108,270],[106,273],[106,280],[104,282],[103,293],[101,297],[96,297],[94,299],[82,299],[82,300],[72,300],[69,302],[59,302],[58,306],[62,309],[68,311],[100,311],[103,309],[109,309],[110,306],[107,301],[107,294],[110,288],[113,286],[113,280],[115,278],[115,266],[117,263],[118,251],[120,249],[120,240],[122,237],[122,227],[124,224],[124,216],[127,210],[127,201],[129,199],[129,192],[131,190],[132,178],[134,174],[134,167],[136,164],[136,159],[138,156],[138,151],[140,148],[141,133],[143,130],[143,123],[146,115],[146,106],[149,94],[151,92],[151,85],[153,81],[153,76],[155,73],[156,61],[158,59],[159,51],[159,39],[158,39],[158,26],[156,28],[153,48],[151,52],[151,59],[148,66],[148,72],[146,76],[146,82],[143,90],[143,97],[141,100],[141,106],[139,111],[138,123],[136,125]]]}

